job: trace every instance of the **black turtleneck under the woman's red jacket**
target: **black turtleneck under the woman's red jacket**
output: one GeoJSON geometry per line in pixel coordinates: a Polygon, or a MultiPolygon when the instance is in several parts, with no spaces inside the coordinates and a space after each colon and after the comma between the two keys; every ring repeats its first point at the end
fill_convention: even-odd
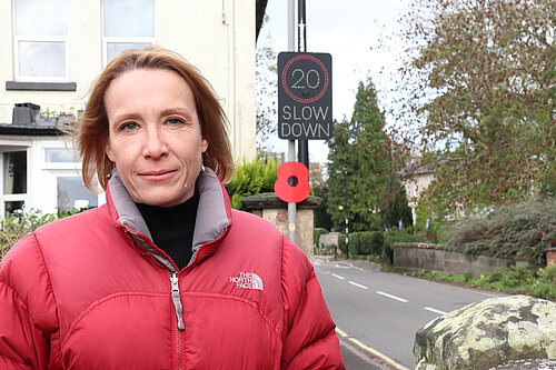
{"type": "Polygon", "coordinates": [[[136,203],[149,228],[152,241],[176,262],[185,268],[192,256],[195,219],[199,194],[197,191],[186,202],[162,208],[136,203]]]}

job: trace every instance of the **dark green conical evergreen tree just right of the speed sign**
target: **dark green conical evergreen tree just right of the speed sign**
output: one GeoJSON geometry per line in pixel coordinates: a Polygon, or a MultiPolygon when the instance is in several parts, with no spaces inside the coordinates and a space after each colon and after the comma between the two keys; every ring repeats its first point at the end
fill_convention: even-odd
{"type": "MultiPolygon", "coordinates": [[[[328,213],[337,229],[342,229],[346,212],[350,231],[391,227],[403,213],[393,212],[401,188],[394,176],[398,146],[385,133],[384,126],[373,81],[359,82],[351,120],[336,122],[328,142],[328,213]],[[339,206],[344,210],[338,210],[339,206]]],[[[405,214],[408,224],[410,212],[405,214]]]]}

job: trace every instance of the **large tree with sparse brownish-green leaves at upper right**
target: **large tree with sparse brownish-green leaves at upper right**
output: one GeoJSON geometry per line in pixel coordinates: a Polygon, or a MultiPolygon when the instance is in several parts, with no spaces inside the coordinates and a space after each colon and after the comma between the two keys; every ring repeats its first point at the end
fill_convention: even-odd
{"type": "Polygon", "coordinates": [[[416,139],[438,163],[428,198],[454,212],[554,189],[556,2],[416,0],[403,21],[400,122],[424,122],[416,139]]]}

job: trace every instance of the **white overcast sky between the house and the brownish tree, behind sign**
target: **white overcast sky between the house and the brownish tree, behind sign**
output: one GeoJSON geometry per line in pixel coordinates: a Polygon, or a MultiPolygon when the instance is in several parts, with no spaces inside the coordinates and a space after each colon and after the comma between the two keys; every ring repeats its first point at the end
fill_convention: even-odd
{"type": "MultiPolygon", "coordinates": [[[[357,86],[367,76],[377,87],[379,102],[387,104],[387,90],[393,87],[394,73],[399,67],[397,58],[403,48],[396,40],[401,28],[398,20],[409,1],[306,0],[307,51],[332,56],[335,119],[351,118],[357,86]],[[387,39],[390,40],[390,51],[376,48],[379,40],[387,39]]],[[[288,51],[287,13],[288,0],[268,0],[267,14],[270,19],[261,29],[258,46],[270,46],[277,54],[288,51]]],[[[287,140],[276,139],[271,143],[275,150],[287,152],[287,140]]],[[[325,141],[309,141],[311,161],[326,162],[327,154],[325,141]]]]}

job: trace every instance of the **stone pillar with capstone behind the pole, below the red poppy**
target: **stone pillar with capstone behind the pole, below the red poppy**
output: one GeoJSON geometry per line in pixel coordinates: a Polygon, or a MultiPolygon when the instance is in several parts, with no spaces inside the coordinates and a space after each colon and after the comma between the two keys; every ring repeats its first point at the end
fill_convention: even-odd
{"type": "MultiPolygon", "coordinates": [[[[288,231],[288,203],[281,201],[274,192],[260,193],[241,199],[247,210],[269,221],[286,237],[288,231]]],[[[308,197],[297,203],[296,244],[312,262],[312,231],[315,229],[315,209],[320,206],[321,199],[308,197]]]]}

